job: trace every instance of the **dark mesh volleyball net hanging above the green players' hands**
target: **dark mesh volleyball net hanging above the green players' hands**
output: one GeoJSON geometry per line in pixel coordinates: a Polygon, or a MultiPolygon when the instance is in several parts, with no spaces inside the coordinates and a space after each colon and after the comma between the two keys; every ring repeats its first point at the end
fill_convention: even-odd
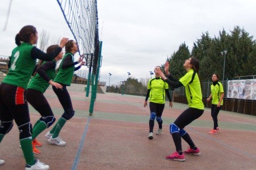
{"type": "Polygon", "coordinates": [[[97,1],[57,0],[57,3],[79,45],[79,55],[85,57],[88,68],[93,67],[96,73],[99,55],[97,1]]]}

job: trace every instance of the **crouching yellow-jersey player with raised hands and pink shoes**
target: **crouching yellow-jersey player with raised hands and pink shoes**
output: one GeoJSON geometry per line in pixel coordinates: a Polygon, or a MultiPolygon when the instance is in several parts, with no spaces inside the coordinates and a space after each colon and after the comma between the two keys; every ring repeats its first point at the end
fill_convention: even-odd
{"type": "Polygon", "coordinates": [[[164,76],[162,71],[158,71],[160,77],[163,78],[172,88],[179,88],[180,86],[185,87],[185,93],[188,101],[189,108],[184,110],[183,113],[177,117],[174,123],[170,125],[170,133],[174,139],[174,144],[176,147],[176,152],[171,155],[166,156],[168,160],[177,160],[184,161],[185,155],[199,155],[200,150],[195,146],[193,140],[188,135],[188,132],[184,130],[184,127],[187,126],[195,119],[199,118],[204,113],[204,103],[202,101],[203,95],[201,90],[201,81],[199,77],[199,60],[195,57],[190,57],[185,60],[183,67],[186,69],[187,73],[181,77],[179,80],[176,80],[171,76],[169,72],[169,63],[168,61],[165,64],[164,71],[167,74],[167,77],[164,76]],[[189,144],[188,150],[182,152],[181,148],[181,138],[189,144]]]}

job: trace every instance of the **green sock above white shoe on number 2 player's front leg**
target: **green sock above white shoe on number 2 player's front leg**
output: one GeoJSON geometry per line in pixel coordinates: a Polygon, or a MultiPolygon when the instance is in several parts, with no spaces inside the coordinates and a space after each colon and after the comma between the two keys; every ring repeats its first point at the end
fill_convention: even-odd
{"type": "Polygon", "coordinates": [[[21,139],[19,141],[20,141],[20,146],[22,147],[23,155],[26,160],[26,164],[34,165],[35,157],[34,157],[34,153],[32,150],[32,139],[26,138],[26,139],[21,139]]]}

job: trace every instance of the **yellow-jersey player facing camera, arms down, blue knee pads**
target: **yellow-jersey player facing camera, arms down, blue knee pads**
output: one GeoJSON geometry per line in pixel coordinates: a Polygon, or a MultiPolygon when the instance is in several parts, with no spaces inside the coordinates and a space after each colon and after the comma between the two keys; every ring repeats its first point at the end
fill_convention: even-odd
{"type": "Polygon", "coordinates": [[[172,107],[172,99],[169,93],[169,87],[167,82],[165,82],[158,74],[158,70],[160,70],[159,66],[155,67],[155,78],[152,78],[148,81],[147,85],[147,95],[144,101],[144,107],[147,106],[147,99],[150,98],[150,120],[149,120],[149,135],[148,139],[153,139],[153,128],[155,124],[155,119],[158,122],[158,132],[156,135],[160,135],[162,133],[162,113],[164,110],[164,103],[166,102],[166,94],[170,101],[169,106],[172,107]]]}

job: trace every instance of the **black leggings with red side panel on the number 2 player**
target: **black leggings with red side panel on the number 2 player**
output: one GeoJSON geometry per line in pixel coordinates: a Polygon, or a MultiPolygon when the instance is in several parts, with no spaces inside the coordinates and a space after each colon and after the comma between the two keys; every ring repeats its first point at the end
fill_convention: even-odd
{"type": "Polygon", "coordinates": [[[0,85],[0,134],[7,134],[13,120],[19,128],[19,139],[32,135],[26,90],[19,86],[2,83],[0,85]]]}

